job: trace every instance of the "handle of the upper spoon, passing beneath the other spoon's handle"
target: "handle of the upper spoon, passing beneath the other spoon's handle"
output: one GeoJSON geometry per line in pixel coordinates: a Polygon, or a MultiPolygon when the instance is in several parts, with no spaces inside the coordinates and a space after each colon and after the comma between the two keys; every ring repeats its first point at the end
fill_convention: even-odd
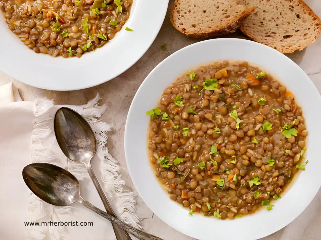
{"type": "MultiPolygon", "coordinates": [[[[86,167],[87,167],[89,176],[91,177],[91,180],[93,181],[93,183],[94,183],[94,185],[95,185],[95,187],[96,187],[96,189],[98,191],[100,199],[101,199],[102,203],[104,204],[104,207],[105,207],[106,211],[110,215],[112,215],[113,217],[116,217],[115,212],[111,208],[111,206],[110,206],[110,204],[108,202],[108,199],[107,199],[105,193],[103,192],[103,190],[102,190],[102,188],[101,188],[101,186],[99,184],[99,181],[96,178],[96,175],[95,175],[94,171],[91,168],[90,162],[89,162],[89,164],[86,164],[86,167]]],[[[117,226],[117,224],[115,224],[115,223],[112,223],[112,225],[113,225],[113,229],[114,229],[115,236],[116,236],[117,240],[131,240],[130,236],[128,235],[128,233],[126,233],[126,231],[124,231],[123,229],[119,228],[117,226]]]]}

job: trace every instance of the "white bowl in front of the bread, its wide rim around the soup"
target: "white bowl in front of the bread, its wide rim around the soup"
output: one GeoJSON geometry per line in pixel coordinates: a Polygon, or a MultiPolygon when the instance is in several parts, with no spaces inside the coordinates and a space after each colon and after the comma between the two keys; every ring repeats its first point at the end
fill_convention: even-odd
{"type": "Polygon", "coordinates": [[[146,77],[129,108],[125,128],[125,153],[130,176],[147,206],[169,226],[197,239],[258,239],[268,236],[293,221],[308,206],[320,188],[321,97],[308,76],[289,58],[265,45],[222,38],[189,45],[163,60],[146,77]],[[201,214],[188,215],[189,209],[170,200],[156,180],[147,156],[146,111],[155,107],[164,88],[187,70],[215,60],[245,60],[262,66],[281,81],[303,108],[309,131],[309,160],[284,196],[275,201],[272,211],[258,211],[234,220],[218,220],[201,214]]]}

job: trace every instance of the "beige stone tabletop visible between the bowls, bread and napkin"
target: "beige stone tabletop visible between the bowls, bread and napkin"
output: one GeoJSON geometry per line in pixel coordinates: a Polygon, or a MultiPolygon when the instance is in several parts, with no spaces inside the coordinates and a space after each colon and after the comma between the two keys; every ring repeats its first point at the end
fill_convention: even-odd
{"type": "MultiPolygon", "coordinates": [[[[305,2],[317,13],[317,15],[321,16],[321,0],[306,0],[305,2]]],[[[124,152],[124,130],[126,116],[131,101],[144,78],[158,63],[168,57],[171,53],[196,42],[196,40],[187,38],[172,27],[169,22],[169,11],[172,3],[173,0],[169,0],[169,10],[163,26],[154,43],[143,57],[134,64],[133,67],[129,68],[120,76],[99,86],[69,92],[48,91],[23,84],[0,71],[0,85],[14,82],[16,87],[19,88],[24,100],[32,101],[37,97],[46,97],[48,99],[53,99],[56,104],[82,105],[99,93],[101,102],[106,103],[108,106],[108,110],[104,114],[103,120],[114,126],[114,131],[109,135],[108,149],[122,166],[122,174],[124,179],[126,179],[126,185],[133,190],[134,186],[126,172],[124,152]],[[164,43],[168,44],[167,51],[162,51],[160,48],[160,45],[164,43]]],[[[229,37],[242,36],[237,33],[230,35],[229,37]]],[[[303,51],[287,54],[287,56],[308,74],[318,91],[321,92],[321,38],[303,51]]],[[[68,80],[66,79],[66,81],[68,80]]],[[[304,87],[304,83],[302,83],[302,86],[304,87]]],[[[311,212],[320,212],[321,210],[320,195],[321,191],[319,191],[318,196],[315,197],[314,201],[296,220],[273,235],[264,238],[264,240],[321,239],[321,228],[317,227],[315,224],[310,224],[315,221],[321,223],[321,217],[311,217],[311,212]]],[[[192,239],[162,222],[151,212],[151,210],[149,210],[140,197],[138,197],[138,201],[138,215],[143,219],[142,224],[146,231],[166,240],[192,239]]],[[[235,237],[237,239],[237,235],[235,237]]]]}

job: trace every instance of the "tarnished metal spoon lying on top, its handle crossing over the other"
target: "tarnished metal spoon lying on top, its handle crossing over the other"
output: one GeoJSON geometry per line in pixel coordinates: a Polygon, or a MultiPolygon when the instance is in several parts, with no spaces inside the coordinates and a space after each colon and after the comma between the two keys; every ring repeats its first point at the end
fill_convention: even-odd
{"type": "Polygon", "coordinates": [[[23,168],[22,177],[28,188],[49,204],[68,206],[74,202],[79,202],[118,227],[138,237],[138,239],[162,240],[159,237],[133,228],[84,200],[80,196],[79,182],[76,177],[61,167],[48,163],[29,164],[23,168]]]}

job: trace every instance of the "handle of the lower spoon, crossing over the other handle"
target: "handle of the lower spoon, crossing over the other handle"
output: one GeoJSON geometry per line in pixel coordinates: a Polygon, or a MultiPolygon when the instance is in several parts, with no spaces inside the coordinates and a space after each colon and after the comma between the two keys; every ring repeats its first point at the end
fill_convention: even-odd
{"type": "Polygon", "coordinates": [[[96,212],[100,216],[108,219],[112,223],[117,224],[120,228],[123,228],[127,232],[133,234],[138,239],[141,239],[141,240],[162,240],[161,238],[159,238],[157,236],[153,236],[151,234],[145,233],[137,228],[133,228],[132,226],[130,226],[127,223],[124,223],[124,222],[118,220],[117,218],[113,217],[112,215],[108,214],[107,212],[104,212],[104,211],[100,210],[99,208],[95,207],[94,205],[92,205],[91,203],[87,202],[82,197],[80,197],[78,202],[83,204],[85,207],[89,208],[90,210],[96,212]]]}

